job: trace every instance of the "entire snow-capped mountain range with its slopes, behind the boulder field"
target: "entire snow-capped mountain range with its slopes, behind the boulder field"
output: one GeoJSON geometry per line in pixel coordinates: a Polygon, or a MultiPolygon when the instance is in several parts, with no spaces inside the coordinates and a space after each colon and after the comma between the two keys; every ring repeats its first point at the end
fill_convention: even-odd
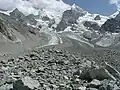
{"type": "Polygon", "coordinates": [[[0,11],[1,53],[16,54],[36,46],[48,45],[77,46],[86,50],[98,47],[120,48],[119,12],[102,16],[90,14],[62,0],[48,3],[53,7],[34,7],[38,15],[26,15],[19,8],[0,11]],[[55,4],[63,7],[54,8],[55,4]]]}

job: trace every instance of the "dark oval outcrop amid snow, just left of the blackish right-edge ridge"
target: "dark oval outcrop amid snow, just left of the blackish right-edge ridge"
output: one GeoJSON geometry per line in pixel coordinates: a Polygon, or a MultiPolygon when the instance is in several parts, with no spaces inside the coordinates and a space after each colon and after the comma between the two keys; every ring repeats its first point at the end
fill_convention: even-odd
{"type": "Polygon", "coordinates": [[[100,29],[100,26],[96,22],[85,21],[83,25],[85,27],[87,27],[89,30],[99,30],[100,29]]]}

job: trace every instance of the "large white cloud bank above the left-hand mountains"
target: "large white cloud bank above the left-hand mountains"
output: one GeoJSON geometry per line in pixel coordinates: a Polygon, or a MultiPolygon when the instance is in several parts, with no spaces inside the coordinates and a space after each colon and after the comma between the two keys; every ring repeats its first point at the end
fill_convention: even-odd
{"type": "Polygon", "coordinates": [[[0,0],[0,9],[13,10],[18,8],[24,14],[38,14],[38,10],[35,8],[63,11],[63,9],[68,8],[66,6],[67,5],[63,3],[62,0],[0,0]]]}

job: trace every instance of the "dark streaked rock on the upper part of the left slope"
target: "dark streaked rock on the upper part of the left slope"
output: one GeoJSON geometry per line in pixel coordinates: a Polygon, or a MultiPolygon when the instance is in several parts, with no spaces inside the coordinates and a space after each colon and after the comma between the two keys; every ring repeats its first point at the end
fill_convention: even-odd
{"type": "MultiPolygon", "coordinates": [[[[17,11],[17,9],[15,11],[17,11]]],[[[20,15],[23,16],[23,14],[20,15]]],[[[31,26],[27,26],[24,23],[21,23],[21,21],[18,19],[13,19],[11,16],[0,13],[0,33],[7,37],[7,39],[15,41],[17,39],[17,36],[15,34],[16,31],[25,36],[28,33],[35,35],[38,30],[31,26]]]]}

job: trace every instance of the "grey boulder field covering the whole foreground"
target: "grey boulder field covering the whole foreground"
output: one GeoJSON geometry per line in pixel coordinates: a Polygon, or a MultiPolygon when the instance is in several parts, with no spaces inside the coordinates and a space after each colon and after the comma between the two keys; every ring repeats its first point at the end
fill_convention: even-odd
{"type": "Polygon", "coordinates": [[[111,60],[119,53],[102,52],[87,55],[50,46],[0,60],[0,90],[120,90],[120,64],[114,61],[116,68],[111,60]]]}

